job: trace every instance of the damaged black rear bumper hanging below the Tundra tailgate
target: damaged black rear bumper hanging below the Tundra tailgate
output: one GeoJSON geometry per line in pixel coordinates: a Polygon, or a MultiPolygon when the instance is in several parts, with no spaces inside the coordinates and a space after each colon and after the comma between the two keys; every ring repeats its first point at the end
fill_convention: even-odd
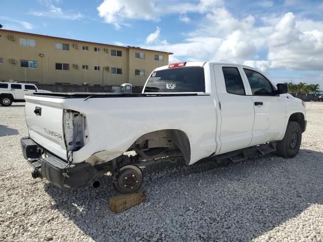
{"type": "Polygon", "coordinates": [[[29,137],[21,138],[20,143],[25,159],[34,168],[34,178],[46,178],[60,188],[75,189],[87,186],[96,176],[96,169],[89,163],[69,166],[67,161],[51,154],[29,137]]]}

